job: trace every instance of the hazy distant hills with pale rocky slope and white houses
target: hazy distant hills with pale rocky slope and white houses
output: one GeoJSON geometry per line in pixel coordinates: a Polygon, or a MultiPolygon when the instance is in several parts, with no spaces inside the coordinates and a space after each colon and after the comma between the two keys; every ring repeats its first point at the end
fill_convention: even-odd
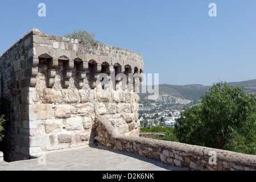
{"type": "MultiPolygon", "coordinates": [[[[229,82],[233,86],[243,86],[248,93],[256,93],[256,79],[241,82],[229,82]]],[[[140,108],[142,112],[155,112],[158,110],[182,109],[185,105],[199,102],[201,95],[205,94],[210,86],[189,85],[159,85],[159,95],[139,93],[140,108]]]]}

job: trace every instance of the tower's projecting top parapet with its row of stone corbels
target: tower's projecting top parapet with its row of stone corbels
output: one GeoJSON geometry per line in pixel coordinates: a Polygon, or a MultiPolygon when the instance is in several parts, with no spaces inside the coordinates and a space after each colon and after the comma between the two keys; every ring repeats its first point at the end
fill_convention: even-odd
{"type": "MultiPolygon", "coordinates": [[[[117,84],[121,78],[117,78],[118,73],[126,75],[127,83],[129,74],[136,74],[142,80],[143,59],[134,51],[100,44],[98,47],[86,47],[79,43],[79,40],[69,40],[63,37],[34,32],[33,35],[34,55],[32,69],[35,70],[40,62],[47,64],[47,86],[53,87],[55,84],[56,69],[59,65],[63,69],[63,88],[70,85],[69,79],[72,74],[77,76],[76,86],[82,88],[85,80],[89,82],[91,89],[96,88],[100,73],[106,73],[109,81],[117,84]],[[114,76],[113,79],[111,74],[114,76]]],[[[115,89],[115,84],[113,84],[115,89]]],[[[31,77],[30,86],[35,86],[34,77],[31,77]]]]}

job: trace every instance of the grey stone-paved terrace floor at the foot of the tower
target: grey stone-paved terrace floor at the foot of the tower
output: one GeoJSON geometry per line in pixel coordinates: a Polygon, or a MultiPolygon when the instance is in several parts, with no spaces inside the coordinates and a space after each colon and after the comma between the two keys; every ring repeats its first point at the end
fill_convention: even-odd
{"type": "Polygon", "coordinates": [[[0,171],[187,171],[103,146],[51,151],[43,156],[11,163],[0,162],[0,171]]]}

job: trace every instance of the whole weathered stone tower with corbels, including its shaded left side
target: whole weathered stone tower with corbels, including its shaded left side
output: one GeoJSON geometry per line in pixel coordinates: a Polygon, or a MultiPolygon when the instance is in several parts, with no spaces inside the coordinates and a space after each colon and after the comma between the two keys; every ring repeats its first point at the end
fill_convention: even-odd
{"type": "Polygon", "coordinates": [[[1,56],[0,71],[1,98],[10,104],[6,161],[93,143],[98,114],[120,133],[139,136],[139,96],[130,88],[115,89],[121,79],[111,79],[118,73],[127,75],[127,81],[129,74],[142,75],[142,56],[136,52],[106,45],[88,48],[79,40],[34,29],[1,56]],[[107,75],[105,88],[99,86],[100,73],[107,75]]]}

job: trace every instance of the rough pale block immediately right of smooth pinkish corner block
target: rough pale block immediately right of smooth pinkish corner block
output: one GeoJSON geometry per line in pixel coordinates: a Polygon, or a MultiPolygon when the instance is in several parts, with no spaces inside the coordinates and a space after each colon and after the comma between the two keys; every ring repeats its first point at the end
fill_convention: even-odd
{"type": "Polygon", "coordinates": [[[76,108],[71,105],[57,105],[54,116],[56,118],[68,118],[71,114],[76,113],[76,108]]]}

